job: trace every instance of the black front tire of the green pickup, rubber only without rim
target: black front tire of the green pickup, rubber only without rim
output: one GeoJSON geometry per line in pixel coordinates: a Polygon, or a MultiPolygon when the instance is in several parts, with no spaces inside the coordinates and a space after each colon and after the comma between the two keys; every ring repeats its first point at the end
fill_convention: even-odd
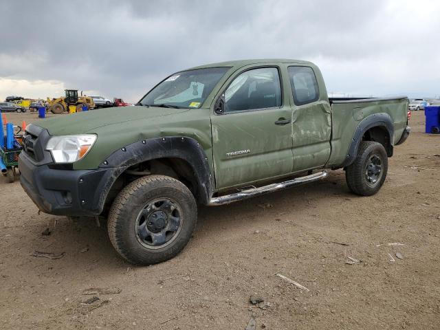
{"type": "Polygon", "coordinates": [[[197,223],[197,203],[190,190],[177,179],[149,175],[131,182],[113,201],[107,229],[115,250],[126,261],[137,265],[160,263],[176,256],[188,243],[197,223]],[[164,248],[146,248],[137,239],[135,223],[149,201],[170,198],[177,202],[183,217],[175,239],[164,248]]]}

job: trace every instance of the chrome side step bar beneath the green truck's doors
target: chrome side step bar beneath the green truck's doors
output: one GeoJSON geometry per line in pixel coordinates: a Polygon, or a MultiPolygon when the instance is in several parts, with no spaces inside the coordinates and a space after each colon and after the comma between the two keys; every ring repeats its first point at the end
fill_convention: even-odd
{"type": "Polygon", "coordinates": [[[267,194],[269,192],[274,192],[289,188],[292,186],[298,186],[300,184],[307,184],[308,182],[318,181],[325,179],[329,176],[327,170],[322,172],[314,173],[311,175],[306,175],[305,177],[296,177],[288,181],[280,182],[278,184],[268,184],[267,186],[262,186],[259,188],[251,188],[247,190],[242,190],[230,195],[224,195],[220,197],[212,197],[208,203],[208,206],[218,206],[223,204],[233,203],[234,201],[241,201],[243,199],[248,199],[255,196],[260,196],[267,194]]]}

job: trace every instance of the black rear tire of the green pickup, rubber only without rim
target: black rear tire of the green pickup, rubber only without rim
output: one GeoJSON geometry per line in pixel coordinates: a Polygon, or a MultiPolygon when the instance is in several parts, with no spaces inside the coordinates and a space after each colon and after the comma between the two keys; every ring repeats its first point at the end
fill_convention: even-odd
{"type": "Polygon", "coordinates": [[[355,161],[345,170],[345,179],[349,189],[356,195],[371,196],[378,192],[384,184],[387,171],[388,156],[384,146],[379,142],[363,141],[360,143],[355,161]],[[374,155],[377,155],[382,162],[382,173],[377,181],[371,184],[366,178],[366,166],[374,155]]]}

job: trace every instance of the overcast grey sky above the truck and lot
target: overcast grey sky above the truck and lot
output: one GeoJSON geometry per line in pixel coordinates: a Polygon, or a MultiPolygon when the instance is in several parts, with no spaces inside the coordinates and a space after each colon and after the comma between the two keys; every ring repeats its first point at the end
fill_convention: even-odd
{"type": "Polygon", "coordinates": [[[329,92],[440,95],[440,1],[0,0],[0,100],[63,89],[139,100],[165,76],[243,58],[320,66],[329,92]]]}

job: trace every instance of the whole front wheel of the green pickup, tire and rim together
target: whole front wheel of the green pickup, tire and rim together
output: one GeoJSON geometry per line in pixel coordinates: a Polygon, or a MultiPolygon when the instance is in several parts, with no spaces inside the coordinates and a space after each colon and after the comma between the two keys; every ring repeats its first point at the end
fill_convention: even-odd
{"type": "Polygon", "coordinates": [[[109,212],[108,230],[115,250],[139,265],[176,256],[197,223],[197,204],[180,181],[150,175],[121,190],[109,212]]]}

